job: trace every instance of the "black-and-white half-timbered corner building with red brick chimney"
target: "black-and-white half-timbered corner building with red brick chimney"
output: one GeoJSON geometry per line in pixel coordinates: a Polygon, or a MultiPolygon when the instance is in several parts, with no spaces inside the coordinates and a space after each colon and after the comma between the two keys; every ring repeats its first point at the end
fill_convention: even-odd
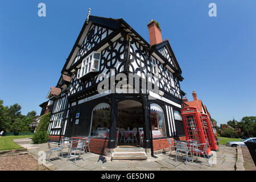
{"type": "MultiPolygon", "coordinates": [[[[126,144],[119,140],[119,129],[143,128],[143,142],[137,144],[152,154],[167,147],[166,138],[185,136],[180,115],[181,69],[168,40],[162,41],[154,20],[148,24],[148,31],[151,44],[123,19],[88,16],[55,86],[60,93],[52,94],[51,88],[47,94],[54,101],[48,127],[51,140],[90,136],[90,151],[106,154],[126,144]],[[159,91],[142,92],[140,80],[138,92],[117,93],[109,89],[99,93],[102,73],[106,78],[137,73],[153,85],[158,84],[159,91]]],[[[110,86],[112,81],[110,78],[110,86]]],[[[117,84],[115,77],[114,86],[117,84]]]]}

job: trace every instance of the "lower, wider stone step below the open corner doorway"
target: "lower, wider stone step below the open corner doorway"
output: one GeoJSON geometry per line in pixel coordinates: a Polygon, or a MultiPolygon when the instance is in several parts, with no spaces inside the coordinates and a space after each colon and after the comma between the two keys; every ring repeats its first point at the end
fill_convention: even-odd
{"type": "Polygon", "coordinates": [[[112,160],[146,160],[146,152],[113,152],[112,160]]]}

